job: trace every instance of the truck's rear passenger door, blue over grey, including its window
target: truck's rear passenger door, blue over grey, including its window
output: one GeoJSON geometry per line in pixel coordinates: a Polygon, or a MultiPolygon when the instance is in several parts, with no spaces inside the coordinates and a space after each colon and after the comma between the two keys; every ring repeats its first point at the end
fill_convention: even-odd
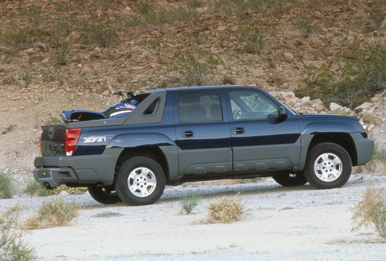
{"type": "Polygon", "coordinates": [[[232,171],[231,132],[224,101],[215,90],[174,92],[179,175],[232,171]]]}

